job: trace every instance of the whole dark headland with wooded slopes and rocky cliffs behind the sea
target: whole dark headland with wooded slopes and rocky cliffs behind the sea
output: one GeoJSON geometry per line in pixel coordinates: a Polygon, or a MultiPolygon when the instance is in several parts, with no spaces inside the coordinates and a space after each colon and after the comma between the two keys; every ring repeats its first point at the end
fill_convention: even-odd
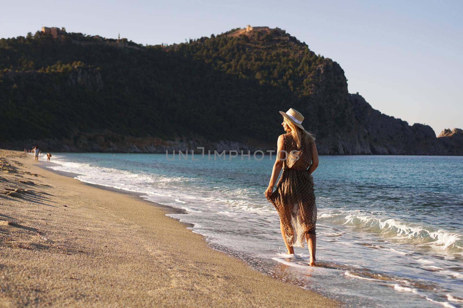
{"type": "Polygon", "coordinates": [[[292,107],[320,154],[463,155],[461,129],[436,137],[373,109],[337,62],[280,28],[143,45],[42,27],[0,42],[3,148],[274,149],[292,107]]]}

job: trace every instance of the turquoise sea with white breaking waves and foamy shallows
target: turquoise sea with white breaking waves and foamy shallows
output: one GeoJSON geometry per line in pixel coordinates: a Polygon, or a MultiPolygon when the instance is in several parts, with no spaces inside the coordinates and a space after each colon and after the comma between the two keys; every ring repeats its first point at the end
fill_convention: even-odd
{"type": "Polygon", "coordinates": [[[56,153],[61,165],[50,168],[183,209],[169,216],[213,248],[349,306],[463,307],[463,157],[320,156],[318,267],[307,266],[307,248],[284,254],[263,194],[275,156],[168,157],[56,153]]]}

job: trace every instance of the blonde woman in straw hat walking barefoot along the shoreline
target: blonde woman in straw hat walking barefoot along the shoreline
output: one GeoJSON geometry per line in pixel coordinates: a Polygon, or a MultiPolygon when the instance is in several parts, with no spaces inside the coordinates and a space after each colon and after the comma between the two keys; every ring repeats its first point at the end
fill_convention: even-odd
{"type": "Polygon", "coordinates": [[[265,197],[280,216],[280,230],[287,253],[294,254],[293,246],[304,247],[305,238],[310,253],[309,265],[315,266],[317,206],[311,175],[319,162],[315,138],[301,125],[304,117],[300,112],[290,108],[286,113],[280,113],[286,133],[278,137],[276,160],[265,197]]]}

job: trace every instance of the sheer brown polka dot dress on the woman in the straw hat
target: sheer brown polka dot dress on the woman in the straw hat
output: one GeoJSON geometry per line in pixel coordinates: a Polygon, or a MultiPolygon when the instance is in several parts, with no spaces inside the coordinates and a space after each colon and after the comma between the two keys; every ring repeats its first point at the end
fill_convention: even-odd
{"type": "Polygon", "coordinates": [[[287,159],[276,189],[267,200],[280,215],[288,245],[304,247],[305,234],[315,234],[317,221],[313,176],[307,171],[312,163],[312,143],[298,149],[291,133],[284,134],[283,139],[287,159]]]}

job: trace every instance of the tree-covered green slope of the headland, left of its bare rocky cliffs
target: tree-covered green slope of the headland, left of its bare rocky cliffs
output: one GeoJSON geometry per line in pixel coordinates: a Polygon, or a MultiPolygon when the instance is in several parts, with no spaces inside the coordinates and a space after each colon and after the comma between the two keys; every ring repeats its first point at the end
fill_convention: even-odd
{"type": "Polygon", "coordinates": [[[0,40],[2,137],[61,138],[104,128],[273,141],[278,110],[310,92],[310,72],[324,60],[279,37],[224,34],[140,50],[79,45],[71,37],[90,41],[41,32],[0,40]]]}

